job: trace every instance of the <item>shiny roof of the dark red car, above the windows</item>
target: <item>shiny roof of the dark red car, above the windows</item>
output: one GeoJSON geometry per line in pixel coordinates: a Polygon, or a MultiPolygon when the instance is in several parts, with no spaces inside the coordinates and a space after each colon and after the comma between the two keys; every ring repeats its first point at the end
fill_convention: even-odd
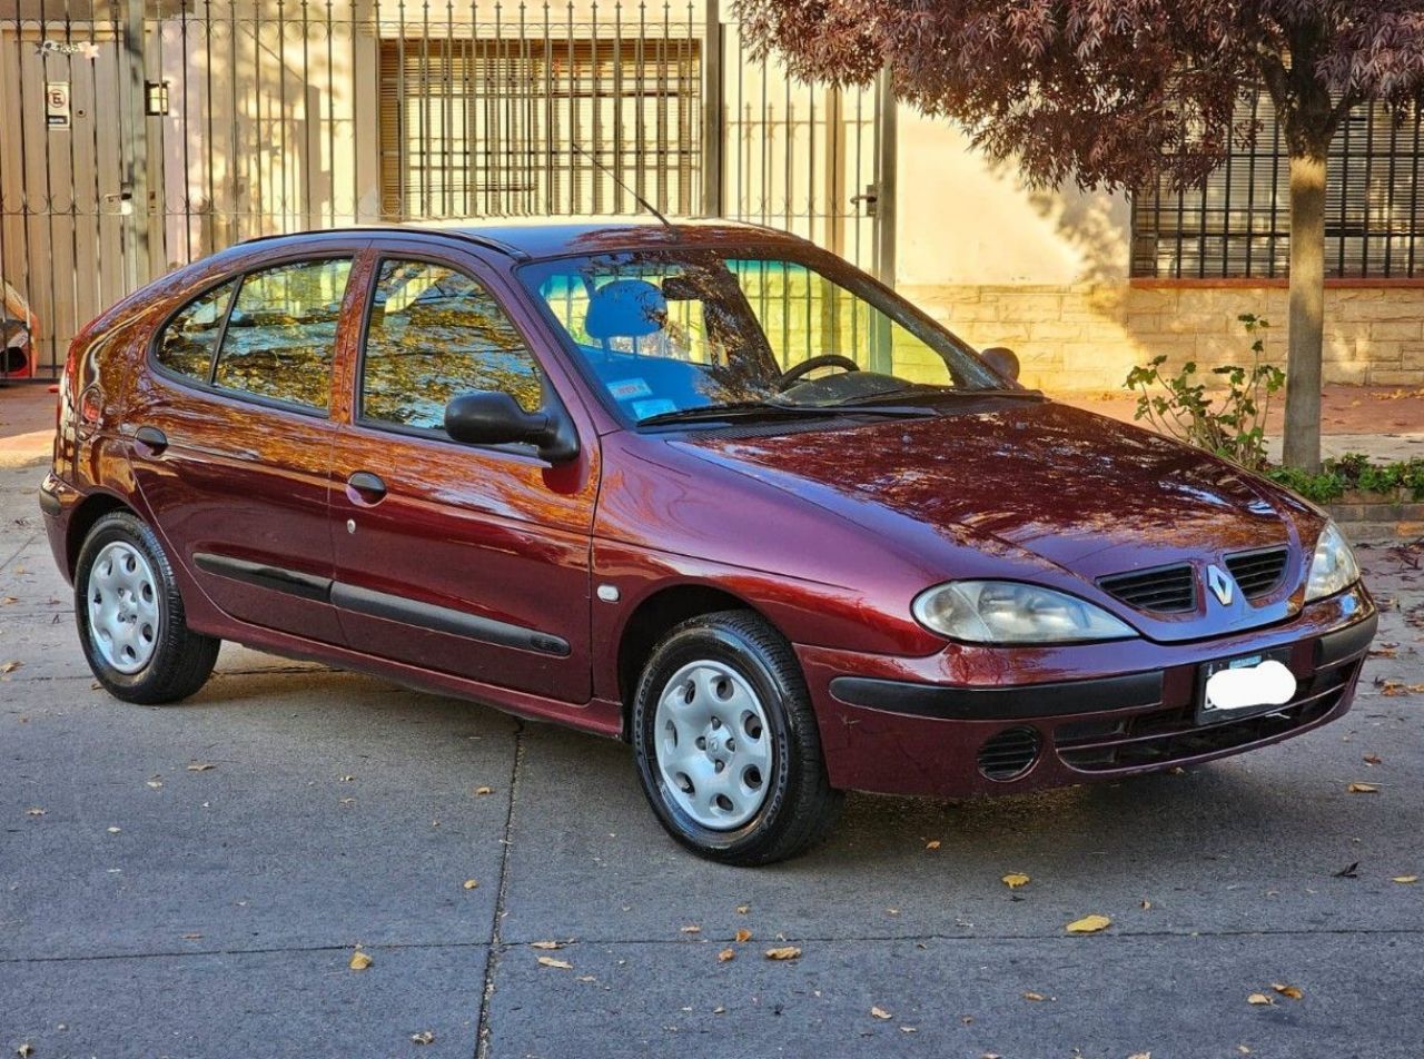
{"type": "Polygon", "coordinates": [[[249,239],[253,243],[300,243],[337,233],[386,232],[390,235],[431,233],[454,236],[520,260],[558,258],[571,253],[605,253],[652,248],[745,246],[748,243],[809,246],[800,236],[776,228],[722,219],[678,219],[661,222],[638,216],[561,216],[416,221],[392,225],[357,225],[249,239]]]}

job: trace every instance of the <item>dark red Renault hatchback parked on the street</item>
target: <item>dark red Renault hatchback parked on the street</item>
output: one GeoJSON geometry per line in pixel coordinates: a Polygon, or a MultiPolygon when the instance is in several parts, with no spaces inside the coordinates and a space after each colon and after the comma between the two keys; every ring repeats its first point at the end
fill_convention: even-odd
{"type": "Polygon", "coordinates": [[[115,696],[192,695],[231,639],[562,722],[738,864],[846,789],[1343,715],[1377,618],[1329,520],[1015,374],[759,228],[262,239],[75,340],[41,504],[115,696]]]}

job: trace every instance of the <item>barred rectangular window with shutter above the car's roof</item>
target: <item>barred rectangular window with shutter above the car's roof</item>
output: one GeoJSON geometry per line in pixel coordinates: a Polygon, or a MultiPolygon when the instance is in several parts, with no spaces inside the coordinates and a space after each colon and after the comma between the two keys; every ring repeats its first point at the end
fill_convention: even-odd
{"type": "Polygon", "coordinates": [[[685,36],[382,41],[383,211],[641,212],[621,181],[695,214],[699,56],[685,36]]]}

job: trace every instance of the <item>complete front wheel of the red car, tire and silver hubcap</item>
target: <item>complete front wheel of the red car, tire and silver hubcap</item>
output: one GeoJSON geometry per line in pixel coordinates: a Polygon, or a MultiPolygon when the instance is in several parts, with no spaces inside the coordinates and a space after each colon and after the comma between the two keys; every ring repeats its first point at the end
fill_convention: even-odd
{"type": "Polygon", "coordinates": [[[840,807],[790,645],[722,611],[672,629],[638,682],[632,739],[668,833],[723,864],[770,864],[822,838],[840,807]]]}

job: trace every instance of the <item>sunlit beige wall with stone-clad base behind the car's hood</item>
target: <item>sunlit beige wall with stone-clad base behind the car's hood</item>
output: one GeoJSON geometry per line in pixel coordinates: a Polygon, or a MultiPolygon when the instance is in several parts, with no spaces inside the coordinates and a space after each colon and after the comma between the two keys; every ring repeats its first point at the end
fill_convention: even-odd
{"type": "MultiPolygon", "coordinates": [[[[1129,283],[1122,195],[1024,189],[948,122],[900,112],[900,290],[977,347],[1008,346],[1024,380],[1058,393],[1121,390],[1158,353],[1203,370],[1250,354],[1237,316],[1274,326],[1286,354],[1286,290],[1129,283]]],[[[1326,295],[1329,383],[1424,386],[1424,288],[1334,286],[1326,295]]]]}

